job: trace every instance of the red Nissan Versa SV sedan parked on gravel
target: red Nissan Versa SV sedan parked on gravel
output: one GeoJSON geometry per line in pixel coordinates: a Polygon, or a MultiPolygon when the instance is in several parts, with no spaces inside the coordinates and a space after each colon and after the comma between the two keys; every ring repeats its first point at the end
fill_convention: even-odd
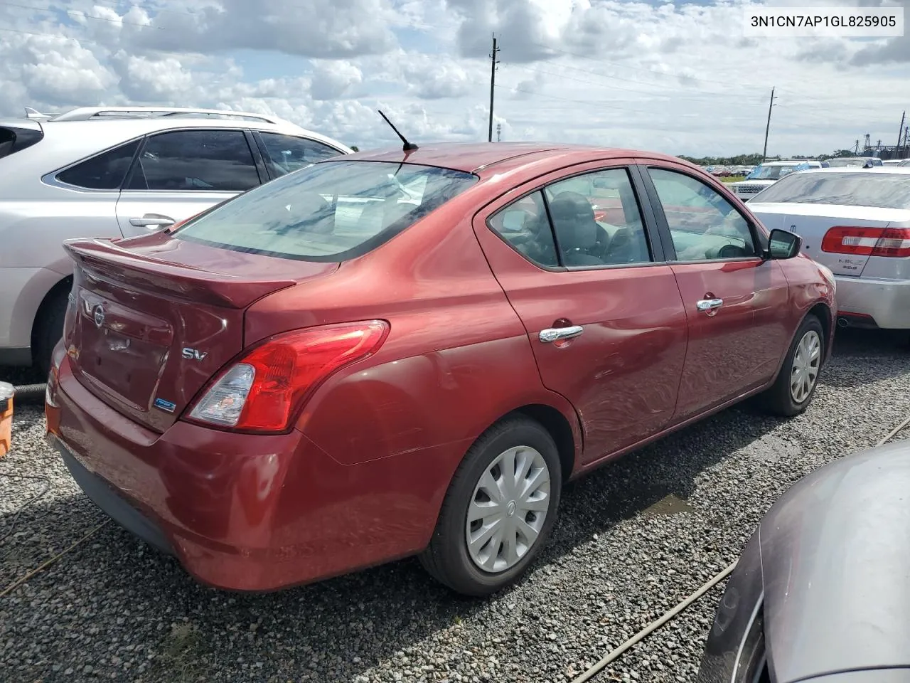
{"type": "Polygon", "coordinates": [[[208,585],[419,555],[487,595],[569,479],[753,394],[806,408],[836,307],[799,242],[652,153],[329,159],[174,229],[66,242],[48,438],[208,585]]]}

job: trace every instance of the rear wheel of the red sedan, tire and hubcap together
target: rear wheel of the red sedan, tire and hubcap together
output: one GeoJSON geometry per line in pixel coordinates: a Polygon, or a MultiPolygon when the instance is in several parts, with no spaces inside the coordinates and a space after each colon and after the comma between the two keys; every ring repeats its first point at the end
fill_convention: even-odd
{"type": "Polygon", "coordinates": [[[509,586],[546,543],[561,484],[556,444],[540,423],[515,417],[490,427],[452,477],[421,564],[466,596],[509,586]]]}

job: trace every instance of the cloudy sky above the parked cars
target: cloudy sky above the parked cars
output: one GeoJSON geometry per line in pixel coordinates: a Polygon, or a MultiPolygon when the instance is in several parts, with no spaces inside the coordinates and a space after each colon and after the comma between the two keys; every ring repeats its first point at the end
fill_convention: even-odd
{"type": "MultiPolygon", "coordinates": [[[[847,0],[773,0],[838,2],[847,0]]],[[[68,12],[0,4],[0,115],[101,102],[221,106],[360,148],[397,142],[378,108],[418,141],[485,140],[494,32],[503,140],[674,154],[761,149],[772,87],[772,154],[852,147],[867,132],[890,141],[910,61],[907,38],[745,39],[735,0],[54,6],[68,12]]]]}

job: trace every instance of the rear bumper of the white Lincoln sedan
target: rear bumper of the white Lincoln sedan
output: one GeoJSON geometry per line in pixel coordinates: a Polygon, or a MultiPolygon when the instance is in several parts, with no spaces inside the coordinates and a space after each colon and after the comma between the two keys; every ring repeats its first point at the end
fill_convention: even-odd
{"type": "Polygon", "coordinates": [[[844,278],[837,280],[837,313],[848,323],[870,319],[868,327],[910,328],[910,280],[844,278]]]}

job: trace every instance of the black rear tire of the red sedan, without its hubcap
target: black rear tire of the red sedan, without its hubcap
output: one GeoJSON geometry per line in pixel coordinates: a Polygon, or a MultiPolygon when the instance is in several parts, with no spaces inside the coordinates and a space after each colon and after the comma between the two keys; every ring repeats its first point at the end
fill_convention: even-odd
{"type": "Polygon", "coordinates": [[[540,423],[511,417],[494,424],[470,447],[452,477],[440,518],[420,564],[444,586],[464,596],[489,596],[515,583],[546,545],[560,503],[561,463],[556,443],[540,423]],[[501,572],[480,569],[470,558],[466,538],[468,508],[480,476],[500,455],[516,446],[530,446],[542,455],[550,474],[550,506],[536,540],[517,564],[501,572]]]}

